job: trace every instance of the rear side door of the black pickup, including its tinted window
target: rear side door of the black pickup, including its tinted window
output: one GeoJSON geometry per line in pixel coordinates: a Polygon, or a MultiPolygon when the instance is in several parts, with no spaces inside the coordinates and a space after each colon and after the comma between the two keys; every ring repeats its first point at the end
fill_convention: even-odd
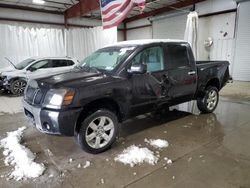
{"type": "Polygon", "coordinates": [[[197,88],[197,73],[190,47],[183,44],[166,45],[166,64],[171,99],[187,101],[193,98],[197,88]]]}

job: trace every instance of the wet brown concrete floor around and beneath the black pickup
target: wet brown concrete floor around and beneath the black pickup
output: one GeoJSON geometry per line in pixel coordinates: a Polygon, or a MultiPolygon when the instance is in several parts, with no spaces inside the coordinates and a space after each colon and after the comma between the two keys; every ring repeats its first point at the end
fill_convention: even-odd
{"type": "MultiPolygon", "coordinates": [[[[0,187],[250,187],[250,103],[223,98],[214,114],[194,115],[171,111],[160,116],[144,115],[122,124],[119,140],[111,150],[91,155],[83,152],[74,138],[50,136],[32,128],[22,113],[0,116],[0,136],[27,126],[24,145],[46,166],[43,176],[16,182],[0,178],[0,187]],[[123,149],[146,146],[144,139],[166,139],[156,165],[131,168],[115,162],[123,149]],[[173,160],[166,164],[164,157],[173,160]],[[69,159],[73,159],[69,162],[69,159]],[[90,161],[90,167],[84,166],[90,161]]],[[[0,154],[0,175],[4,166],[0,154]]]]}

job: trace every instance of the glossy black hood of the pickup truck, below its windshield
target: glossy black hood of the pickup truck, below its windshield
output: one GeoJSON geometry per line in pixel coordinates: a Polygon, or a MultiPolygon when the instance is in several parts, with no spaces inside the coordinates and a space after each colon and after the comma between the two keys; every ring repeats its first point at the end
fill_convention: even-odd
{"type": "Polygon", "coordinates": [[[83,70],[70,70],[48,77],[37,78],[35,80],[49,87],[78,88],[94,81],[101,82],[100,80],[102,80],[104,77],[106,76],[103,73],[85,72],[83,70]]]}

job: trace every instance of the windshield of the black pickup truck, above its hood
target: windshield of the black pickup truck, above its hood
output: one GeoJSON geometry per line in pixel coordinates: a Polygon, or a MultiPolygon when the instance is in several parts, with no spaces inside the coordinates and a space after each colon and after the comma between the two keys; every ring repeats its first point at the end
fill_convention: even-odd
{"type": "Polygon", "coordinates": [[[80,62],[81,68],[112,71],[125,60],[135,47],[113,47],[100,49],[80,62]]]}

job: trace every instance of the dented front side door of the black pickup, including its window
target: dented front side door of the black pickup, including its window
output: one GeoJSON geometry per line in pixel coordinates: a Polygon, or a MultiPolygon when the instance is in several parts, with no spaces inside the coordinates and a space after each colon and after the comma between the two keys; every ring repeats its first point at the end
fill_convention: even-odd
{"type": "Polygon", "coordinates": [[[147,72],[132,74],[129,81],[132,86],[131,116],[149,112],[168,98],[165,49],[153,46],[143,49],[131,62],[131,66],[145,64],[147,72]]]}

